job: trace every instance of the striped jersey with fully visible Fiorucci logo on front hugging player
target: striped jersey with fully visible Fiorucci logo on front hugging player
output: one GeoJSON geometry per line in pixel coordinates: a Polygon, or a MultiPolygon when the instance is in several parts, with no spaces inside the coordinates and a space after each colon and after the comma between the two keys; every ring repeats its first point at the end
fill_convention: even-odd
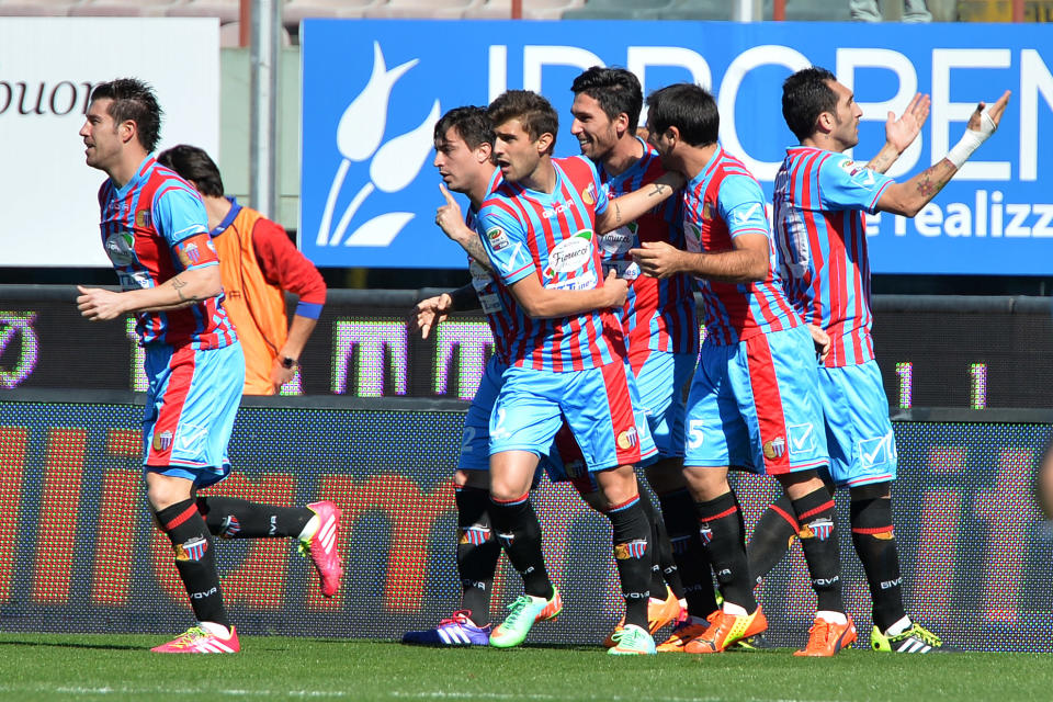
{"type": "MultiPolygon", "coordinates": [[[[607,194],[599,176],[580,156],[553,159],[552,165],[552,193],[505,181],[483,203],[477,230],[490,264],[508,287],[528,275],[546,288],[602,286],[595,227],[597,213],[607,210],[607,194]]],[[[625,358],[621,324],[610,309],[556,319],[529,317],[518,306],[508,313],[503,342],[512,365],[559,373],[625,358]]]]}

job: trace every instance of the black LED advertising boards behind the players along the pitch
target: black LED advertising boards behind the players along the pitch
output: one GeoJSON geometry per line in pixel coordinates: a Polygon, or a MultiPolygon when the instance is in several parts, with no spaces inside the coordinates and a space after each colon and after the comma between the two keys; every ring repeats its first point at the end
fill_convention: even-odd
{"type": "MultiPolygon", "coordinates": [[[[0,286],[7,310],[0,312],[0,377],[16,388],[0,390],[0,627],[180,631],[190,609],[141,486],[143,400],[128,390],[135,351],[120,322],[82,322],[71,288],[43,290],[0,286]],[[23,382],[12,383],[20,374],[23,382]],[[48,389],[60,378],[63,389],[48,389]]],[[[434,625],[456,607],[450,477],[466,403],[451,398],[473,389],[477,336],[472,327],[455,330],[463,341],[445,347],[444,371],[435,359],[449,339],[429,352],[407,332],[405,355],[393,353],[387,347],[404,337],[395,332],[387,347],[384,339],[396,322],[405,329],[416,299],[409,292],[330,293],[302,384],[308,394],[326,394],[242,401],[230,443],[235,473],[217,491],[283,505],[333,500],[343,510],[347,564],[340,592],[326,600],[290,541],[218,543],[226,598],[244,634],[394,638],[434,625]],[[347,320],[381,326],[370,341],[362,331],[370,327],[339,327],[347,320]],[[382,347],[384,363],[377,382],[362,370],[376,367],[373,351],[351,352],[340,377],[356,394],[380,388],[378,397],[331,392],[327,354],[342,352],[349,333],[364,339],[352,348],[382,347]],[[427,362],[418,363],[421,353],[427,362]],[[401,397],[392,358],[405,359],[401,397]],[[437,398],[440,376],[448,392],[437,398]]],[[[879,361],[912,364],[909,373],[885,369],[908,611],[963,648],[1053,650],[1053,530],[1032,498],[1053,424],[1053,410],[1040,409],[1053,356],[1049,301],[885,297],[874,306],[879,361]],[[898,401],[904,397],[912,401],[898,401]],[[932,397],[944,407],[931,407],[932,397]],[[987,409],[970,409],[977,404],[987,409]]],[[[477,320],[452,326],[462,321],[477,320]]],[[[777,491],[771,480],[751,476],[738,476],[736,489],[748,526],[777,491]]],[[[846,497],[839,496],[845,596],[865,642],[870,596],[849,537],[846,497]]],[[[557,622],[539,624],[531,641],[599,642],[621,610],[609,523],[566,485],[543,482],[534,500],[566,607],[557,622]]],[[[520,588],[501,563],[495,619],[520,588]]],[[[758,596],[772,643],[803,644],[815,598],[799,546],[758,596]]]]}

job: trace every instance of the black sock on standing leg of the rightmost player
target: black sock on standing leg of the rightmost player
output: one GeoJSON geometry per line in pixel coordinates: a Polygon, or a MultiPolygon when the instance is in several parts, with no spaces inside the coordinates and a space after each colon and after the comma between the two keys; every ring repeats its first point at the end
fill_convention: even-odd
{"type": "Polygon", "coordinates": [[[892,528],[891,499],[852,500],[852,545],[867,573],[874,625],[884,632],[907,615],[903,609],[903,577],[892,528]]]}

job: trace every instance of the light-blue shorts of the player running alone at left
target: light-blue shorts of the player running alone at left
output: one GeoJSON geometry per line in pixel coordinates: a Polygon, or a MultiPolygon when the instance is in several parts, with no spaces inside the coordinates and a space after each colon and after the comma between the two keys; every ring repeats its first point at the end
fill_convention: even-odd
{"type": "Polygon", "coordinates": [[[227,477],[227,443],[245,386],[241,346],[200,351],[151,343],[145,370],[145,468],[193,480],[197,487],[227,477]]]}

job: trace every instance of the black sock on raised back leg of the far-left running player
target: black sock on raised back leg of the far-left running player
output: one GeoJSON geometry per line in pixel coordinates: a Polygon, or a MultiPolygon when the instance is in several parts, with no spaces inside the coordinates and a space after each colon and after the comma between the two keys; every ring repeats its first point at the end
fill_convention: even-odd
{"type": "Polygon", "coordinates": [[[199,497],[197,511],[208,531],[220,539],[298,536],[315,516],[306,507],[276,507],[219,495],[199,497]]]}

